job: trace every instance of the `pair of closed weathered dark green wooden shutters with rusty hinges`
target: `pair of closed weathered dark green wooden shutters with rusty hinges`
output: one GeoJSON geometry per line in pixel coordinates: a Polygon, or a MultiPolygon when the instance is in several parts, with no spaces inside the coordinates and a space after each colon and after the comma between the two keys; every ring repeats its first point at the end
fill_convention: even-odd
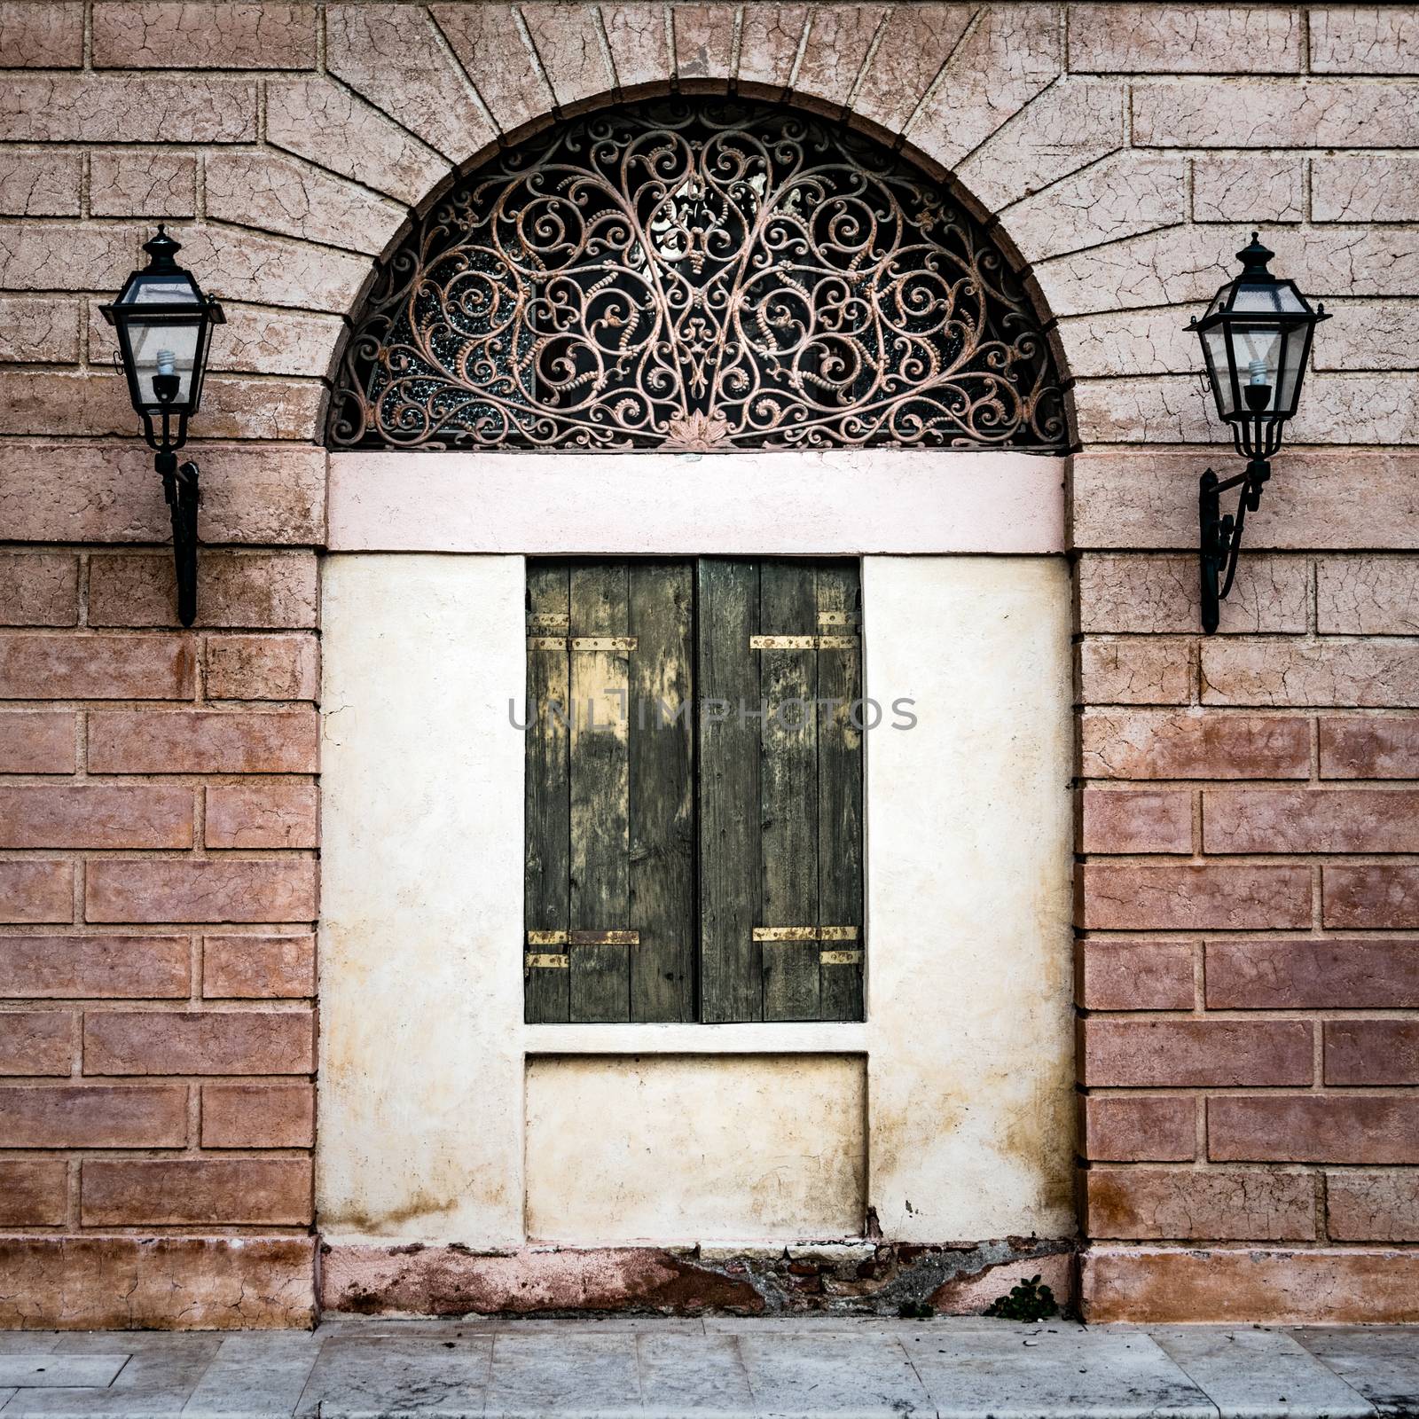
{"type": "Polygon", "coordinates": [[[695,1019],[697,955],[701,1020],[860,1019],[857,566],[535,562],[528,613],[526,1019],[695,1019]]]}

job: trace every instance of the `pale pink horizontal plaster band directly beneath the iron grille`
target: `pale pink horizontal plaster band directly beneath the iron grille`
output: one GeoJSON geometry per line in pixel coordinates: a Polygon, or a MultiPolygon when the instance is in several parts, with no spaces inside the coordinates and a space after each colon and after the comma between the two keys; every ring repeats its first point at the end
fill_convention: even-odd
{"type": "Polygon", "coordinates": [[[332,551],[1060,552],[1066,460],[999,451],[336,453],[332,551]]]}

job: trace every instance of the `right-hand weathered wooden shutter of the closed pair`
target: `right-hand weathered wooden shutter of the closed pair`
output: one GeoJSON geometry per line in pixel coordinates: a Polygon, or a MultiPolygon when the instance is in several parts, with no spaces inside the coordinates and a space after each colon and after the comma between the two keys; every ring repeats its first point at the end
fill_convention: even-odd
{"type": "Polygon", "coordinates": [[[701,1019],[860,1019],[857,566],[704,559],[698,593],[701,1019]]]}

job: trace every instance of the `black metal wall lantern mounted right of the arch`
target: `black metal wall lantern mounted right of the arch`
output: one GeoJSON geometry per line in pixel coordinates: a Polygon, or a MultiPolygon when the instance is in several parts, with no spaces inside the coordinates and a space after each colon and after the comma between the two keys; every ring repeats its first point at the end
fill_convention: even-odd
{"type": "Polygon", "coordinates": [[[1267,271],[1273,255],[1253,231],[1250,244],[1237,253],[1242,274],[1218,291],[1200,321],[1188,322],[1202,341],[1218,413],[1232,426],[1237,454],[1247,460],[1246,470],[1226,481],[1208,468],[1198,490],[1202,629],[1209,636],[1232,590],[1246,515],[1261,505],[1261,485],[1271,477],[1269,460],[1281,447],[1281,426],[1296,413],[1311,335],[1330,319],[1324,305],[1311,309],[1294,281],[1267,271]],[[1220,495],[1236,487],[1242,488],[1236,517],[1222,517],[1220,495]]]}

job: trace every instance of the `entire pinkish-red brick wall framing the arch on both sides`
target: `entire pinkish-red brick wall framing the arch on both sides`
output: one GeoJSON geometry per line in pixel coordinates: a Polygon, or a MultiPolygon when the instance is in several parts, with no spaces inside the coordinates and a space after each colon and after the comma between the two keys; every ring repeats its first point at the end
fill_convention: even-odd
{"type": "Polygon", "coordinates": [[[1059,319],[1091,1314],[1415,1314],[1419,9],[0,0],[0,1324],[309,1314],[342,316],[502,136],[728,84],[954,172],[1059,319]],[[190,633],[95,315],[158,217],[231,321],[190,633]],[[1182,326],[1252,226],[1335,319],[1202,641],[1182,326]]]}

